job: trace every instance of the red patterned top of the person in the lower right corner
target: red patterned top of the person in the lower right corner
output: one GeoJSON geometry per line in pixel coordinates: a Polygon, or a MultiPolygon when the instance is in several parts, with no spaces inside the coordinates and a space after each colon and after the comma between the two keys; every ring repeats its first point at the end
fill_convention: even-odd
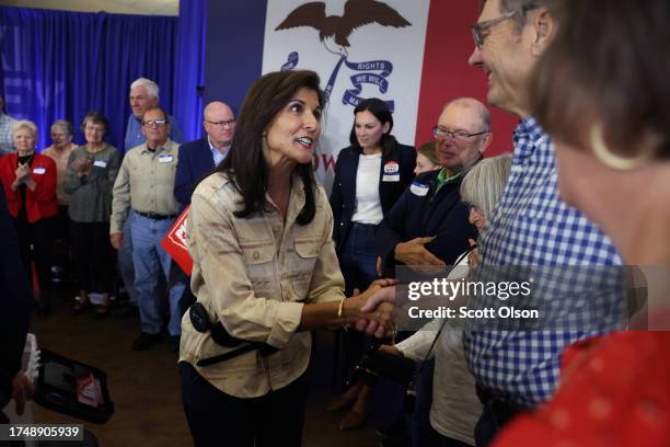
{"type": "Polygon", "coordinates": [[[670,446],[670,332],[619,332],[567,347],[554,398],[494,445],[670,446]]]}

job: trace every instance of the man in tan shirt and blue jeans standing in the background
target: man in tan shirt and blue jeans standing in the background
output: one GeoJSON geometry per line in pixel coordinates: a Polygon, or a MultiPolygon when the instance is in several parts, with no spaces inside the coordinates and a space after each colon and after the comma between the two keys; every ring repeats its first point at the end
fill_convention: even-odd
{"type": "Polygon", "coordinates": [[[132,342],[132,349],[147,349],[160,340],[163,321],[159,275],[162,271],[170,286],[169,348],[176,352],[182,332],[180,299],[186,284],[171,278],[172,261],[161,240],[180,208],[173,194],[178,145],[168,137],[170,121],[160,107],[147,108],[142,115],[142,133],[147,141],[126,153],[114,183],[109,240],[116,250],[120,248],[127,221],[141,321],[141,333],[132,342]]]}

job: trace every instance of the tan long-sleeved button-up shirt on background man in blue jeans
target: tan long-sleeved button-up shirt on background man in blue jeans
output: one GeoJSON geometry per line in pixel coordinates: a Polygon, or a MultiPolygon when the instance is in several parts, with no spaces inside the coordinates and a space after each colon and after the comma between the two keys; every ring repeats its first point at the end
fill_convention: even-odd
{"type": "Polygon", "coordinates": [[[130,208],[136,211],[176,215],[174,175],[180,145],[168,140],[154,152],[142,144],[130,149],[114,182],[109,233],[123,232],[130,208]]]}

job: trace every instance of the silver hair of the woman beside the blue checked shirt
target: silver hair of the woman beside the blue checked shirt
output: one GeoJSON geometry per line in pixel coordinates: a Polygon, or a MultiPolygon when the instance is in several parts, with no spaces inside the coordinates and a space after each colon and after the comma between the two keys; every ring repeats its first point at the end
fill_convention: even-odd
{"type": "Polygon", "coordinates": [[[510,169],[509,153],[480,161],[461,183],[461,199],[488,218],[503,195],[510,169]]]}

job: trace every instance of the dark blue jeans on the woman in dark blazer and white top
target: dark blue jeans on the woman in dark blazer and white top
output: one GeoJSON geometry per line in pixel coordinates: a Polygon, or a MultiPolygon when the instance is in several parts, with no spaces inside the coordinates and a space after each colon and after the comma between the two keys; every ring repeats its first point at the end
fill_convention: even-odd
{"type": "Polygon", "coordinates": [[[376,232],[376,225],[351,224],[347,240],[338,253],[347,297],[354,294],[354,288],[362,293],[377,279],[376,232]]]}

